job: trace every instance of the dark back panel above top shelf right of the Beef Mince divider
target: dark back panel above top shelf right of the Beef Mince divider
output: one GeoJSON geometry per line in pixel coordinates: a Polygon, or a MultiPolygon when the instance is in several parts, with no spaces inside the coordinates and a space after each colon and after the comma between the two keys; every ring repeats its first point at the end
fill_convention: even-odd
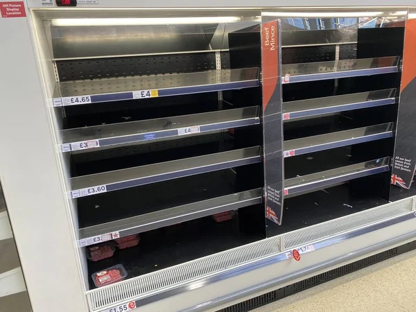
{"type": "MultiPolygon", "coordinates": [[[[340,44],[339,59],[355,59],[356,44],[340,44]]],[[[327,62],[336,60],[336,45],[328,46],[296,46],[282,49],[283,64],[299,64],[307,62],[327,62]]]]}

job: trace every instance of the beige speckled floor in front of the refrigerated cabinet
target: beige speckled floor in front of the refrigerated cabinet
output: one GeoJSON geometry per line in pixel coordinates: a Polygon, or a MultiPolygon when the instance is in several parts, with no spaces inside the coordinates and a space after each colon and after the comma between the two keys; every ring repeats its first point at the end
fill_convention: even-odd
{"type": "Polygon", "coordinates": [[[254,312],[416,312],[416,250],[254,312]]]}

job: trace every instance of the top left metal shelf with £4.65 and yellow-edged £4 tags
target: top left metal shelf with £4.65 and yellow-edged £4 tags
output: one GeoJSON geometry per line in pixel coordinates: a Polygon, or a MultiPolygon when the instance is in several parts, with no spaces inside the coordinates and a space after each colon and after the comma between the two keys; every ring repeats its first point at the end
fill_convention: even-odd
{"type": "Polygon", "coordinates": [[[257,87],[259,85],[258,68],[83,80],[71,83],[58,83],[53,93],[53,106],[215,92],[257,87]]]}

